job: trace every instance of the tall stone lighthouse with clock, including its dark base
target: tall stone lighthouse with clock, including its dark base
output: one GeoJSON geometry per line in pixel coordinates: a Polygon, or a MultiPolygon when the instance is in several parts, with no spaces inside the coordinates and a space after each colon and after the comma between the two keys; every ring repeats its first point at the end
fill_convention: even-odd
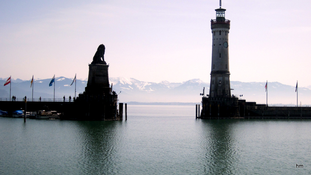
{"type": "Polygon", "coordinates": [[[216,19],[211,20],[212,57],[211,82],[207,96],[202,97],[200,118],[239,117],[239,98],[231,95],[229,71],[229,30],[230,20],[225,18],[226,9],[215,9],[216,19]]]}

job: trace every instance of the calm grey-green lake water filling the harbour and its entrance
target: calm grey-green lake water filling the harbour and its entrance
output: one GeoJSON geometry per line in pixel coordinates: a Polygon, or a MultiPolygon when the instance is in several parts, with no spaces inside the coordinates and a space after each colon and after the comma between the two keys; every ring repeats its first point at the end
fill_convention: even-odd
{"type": "Polygon", "coordinates": [[[0,117],[0,130],[0,174],[311,174],[311,120],[128,105],[127,121],[0,117]]]}

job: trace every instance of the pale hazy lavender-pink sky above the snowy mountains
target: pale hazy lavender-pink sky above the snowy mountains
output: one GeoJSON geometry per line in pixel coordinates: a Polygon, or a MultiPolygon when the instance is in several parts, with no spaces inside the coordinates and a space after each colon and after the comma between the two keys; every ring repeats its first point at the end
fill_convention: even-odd
{"type": "MultiPolygon", "coordinates": [[[[0,2],[0,77],[88,76],[104,44],[109,77],[210,82],[218,0],[0,2]]],[[[230,80],[311,85],[311,1],[222,0],[230,80]]]]}

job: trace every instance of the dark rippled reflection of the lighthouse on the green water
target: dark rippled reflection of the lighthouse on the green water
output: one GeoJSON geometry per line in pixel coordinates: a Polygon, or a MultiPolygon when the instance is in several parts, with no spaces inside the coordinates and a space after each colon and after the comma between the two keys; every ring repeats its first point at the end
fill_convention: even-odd
{"type": "Polygon", "coordinates": [[[236,121],[205,120],[202,122],[202,149],[205,149],[204,171],[212,174],[237,174],[239,155],[234,138],[236,121]]]}

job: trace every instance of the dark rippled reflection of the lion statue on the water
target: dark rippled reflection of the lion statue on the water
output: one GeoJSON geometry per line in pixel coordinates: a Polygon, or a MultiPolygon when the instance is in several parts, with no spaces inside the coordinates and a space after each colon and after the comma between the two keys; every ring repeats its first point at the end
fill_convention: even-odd
{"type": "Polygon", "coordinates": [[[82,174],[114,174],[120,121],[80,121],[82,174]]]}

